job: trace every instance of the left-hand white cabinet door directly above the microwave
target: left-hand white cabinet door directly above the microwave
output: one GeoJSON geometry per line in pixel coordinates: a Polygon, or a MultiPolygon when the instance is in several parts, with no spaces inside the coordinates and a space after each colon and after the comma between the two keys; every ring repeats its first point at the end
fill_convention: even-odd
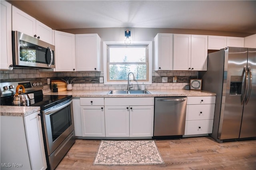
{"type": "Polygon", "coordinates": [[[34,37],[36,34],[36,19],[12,6],[12,30],[34,37]]]}

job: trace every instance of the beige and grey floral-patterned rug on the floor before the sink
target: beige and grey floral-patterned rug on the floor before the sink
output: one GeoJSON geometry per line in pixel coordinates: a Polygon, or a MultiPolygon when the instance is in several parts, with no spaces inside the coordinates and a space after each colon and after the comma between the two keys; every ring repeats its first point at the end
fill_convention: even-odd
{"type": "Polygon", "coordinates": [[[164,164],[155,141],[101,141],[93,165],[164,164]]]}

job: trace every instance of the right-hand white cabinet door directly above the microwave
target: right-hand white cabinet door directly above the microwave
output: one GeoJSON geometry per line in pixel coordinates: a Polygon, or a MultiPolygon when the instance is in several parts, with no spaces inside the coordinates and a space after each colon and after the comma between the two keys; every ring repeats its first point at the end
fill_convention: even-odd
{"type": "Polygon", "coordinates": [[[36,20],[36,37],[46,43],[52,44],[52,29],[36,20]]]}

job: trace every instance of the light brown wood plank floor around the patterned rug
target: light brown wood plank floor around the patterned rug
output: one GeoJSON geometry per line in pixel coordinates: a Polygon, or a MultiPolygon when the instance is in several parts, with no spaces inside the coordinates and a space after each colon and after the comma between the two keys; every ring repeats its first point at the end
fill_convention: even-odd
{"type": "Polygon", "coordinates": [[[256,170],[256,140],[217,143],[211,137],[157,140],[164,165],[92,165],[100,140],[76,139],[56,170],[256,170]]]}

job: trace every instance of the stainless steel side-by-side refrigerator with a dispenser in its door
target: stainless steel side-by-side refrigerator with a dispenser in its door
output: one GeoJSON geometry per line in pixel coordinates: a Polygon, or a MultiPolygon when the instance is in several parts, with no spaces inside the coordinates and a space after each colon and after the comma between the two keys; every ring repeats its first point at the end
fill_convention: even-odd
{"type": "Polygon", "coordinates": [[[208,54],[206,72],[199,72],[202,90],[216,93],[211,136],[256,137],[256,49],[227,47],[208,54]]]}

